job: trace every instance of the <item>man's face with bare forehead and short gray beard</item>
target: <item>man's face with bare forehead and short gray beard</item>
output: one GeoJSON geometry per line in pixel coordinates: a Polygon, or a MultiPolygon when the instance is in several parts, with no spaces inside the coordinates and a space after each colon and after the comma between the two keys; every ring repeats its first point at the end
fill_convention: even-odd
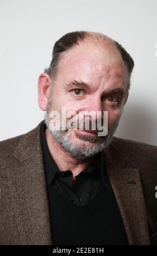
{"type": "MultiPolygon", "coordinates": [[[[63,54],[52,96],[49,99],[45,121],[56,141],[77,159],[86,159],[108,147],[119,123],[127,95],[128,71],[120,53],[104,42],[89,39],[63,54]],[[94,111],[97,119],[108,112],[108,135],[82,130],[54,131],[50,128],[51,111],[77,114],[94,111]],[[99,114],[98,112],[99,111],[99,114]]],[[[86,119],[86,115],[84,115],[86,119]]],[[[67,119],[68,120],[68,119],[67,119]]]]}

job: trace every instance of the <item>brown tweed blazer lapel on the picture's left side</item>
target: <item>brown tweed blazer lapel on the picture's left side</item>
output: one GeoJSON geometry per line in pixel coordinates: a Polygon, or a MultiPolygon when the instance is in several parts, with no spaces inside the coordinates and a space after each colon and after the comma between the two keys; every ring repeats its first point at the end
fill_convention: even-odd
{"type": "Polygon", "coordinates": [[[22,245],[52,243],[40,124],[21,137],[13,153],[14,161],[6,170],[22,245]]]}

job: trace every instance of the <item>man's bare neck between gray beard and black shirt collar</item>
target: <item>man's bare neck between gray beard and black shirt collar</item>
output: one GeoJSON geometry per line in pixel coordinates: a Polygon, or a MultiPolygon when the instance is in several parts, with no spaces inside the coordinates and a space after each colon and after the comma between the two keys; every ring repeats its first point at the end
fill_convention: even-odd
{"type": "Polygon", "coordinates": [[[58,144],[54,137],[48,130],[45,130],[45,138],[47,140],[48,148],[51,156],[56,162],[60,170],[71,170],[75,177],[85,169],[89,163],[94,160],[94,157],[90,157],[85,160],[78,160],[71,156],[66,150],[64,150],[60,144],[58,144]]]}

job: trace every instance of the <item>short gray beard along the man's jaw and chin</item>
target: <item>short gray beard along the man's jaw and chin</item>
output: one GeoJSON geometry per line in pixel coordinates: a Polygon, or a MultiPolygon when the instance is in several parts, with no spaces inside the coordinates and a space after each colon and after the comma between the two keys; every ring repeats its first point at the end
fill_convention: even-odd
{"type": "Polygon", "coordinates": [[[50,118],[48,111],[45,112],[45,124],[47,125],[48,131],[55,138],[55,141],[61,145],[61,147],[66,150],[71,156],[75,157],[78,160],[88,159],[91,156],[96,155],[104,148],[107,148],[109,144],[112,142],[114,132],[119,124],[119,120],[116,120],[112,129],[108,132],[107,136],[97,136],[90,137],[78,134],[77,131],[74,131],[75,136],[80,139],[80,143],[74,143],[73,138],[70,136],[70,131],[63,130],[52,130],[50,129],[50,118]],[[81,141],[89,141],[93,144],[90,146],[84,145],[81,141]]]}

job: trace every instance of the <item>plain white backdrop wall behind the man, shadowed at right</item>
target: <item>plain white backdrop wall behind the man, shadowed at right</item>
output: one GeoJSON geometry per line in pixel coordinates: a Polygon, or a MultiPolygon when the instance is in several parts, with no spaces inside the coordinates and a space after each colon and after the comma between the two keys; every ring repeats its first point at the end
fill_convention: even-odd
{"type": "Polygon", "coordinates": [[[55,41],[76,30],[102,32],[133,57],[130,95],[115,135],[157,145],[156,0],[0,0],[0,141],[43,119],[38,76],[55,41]]]}

